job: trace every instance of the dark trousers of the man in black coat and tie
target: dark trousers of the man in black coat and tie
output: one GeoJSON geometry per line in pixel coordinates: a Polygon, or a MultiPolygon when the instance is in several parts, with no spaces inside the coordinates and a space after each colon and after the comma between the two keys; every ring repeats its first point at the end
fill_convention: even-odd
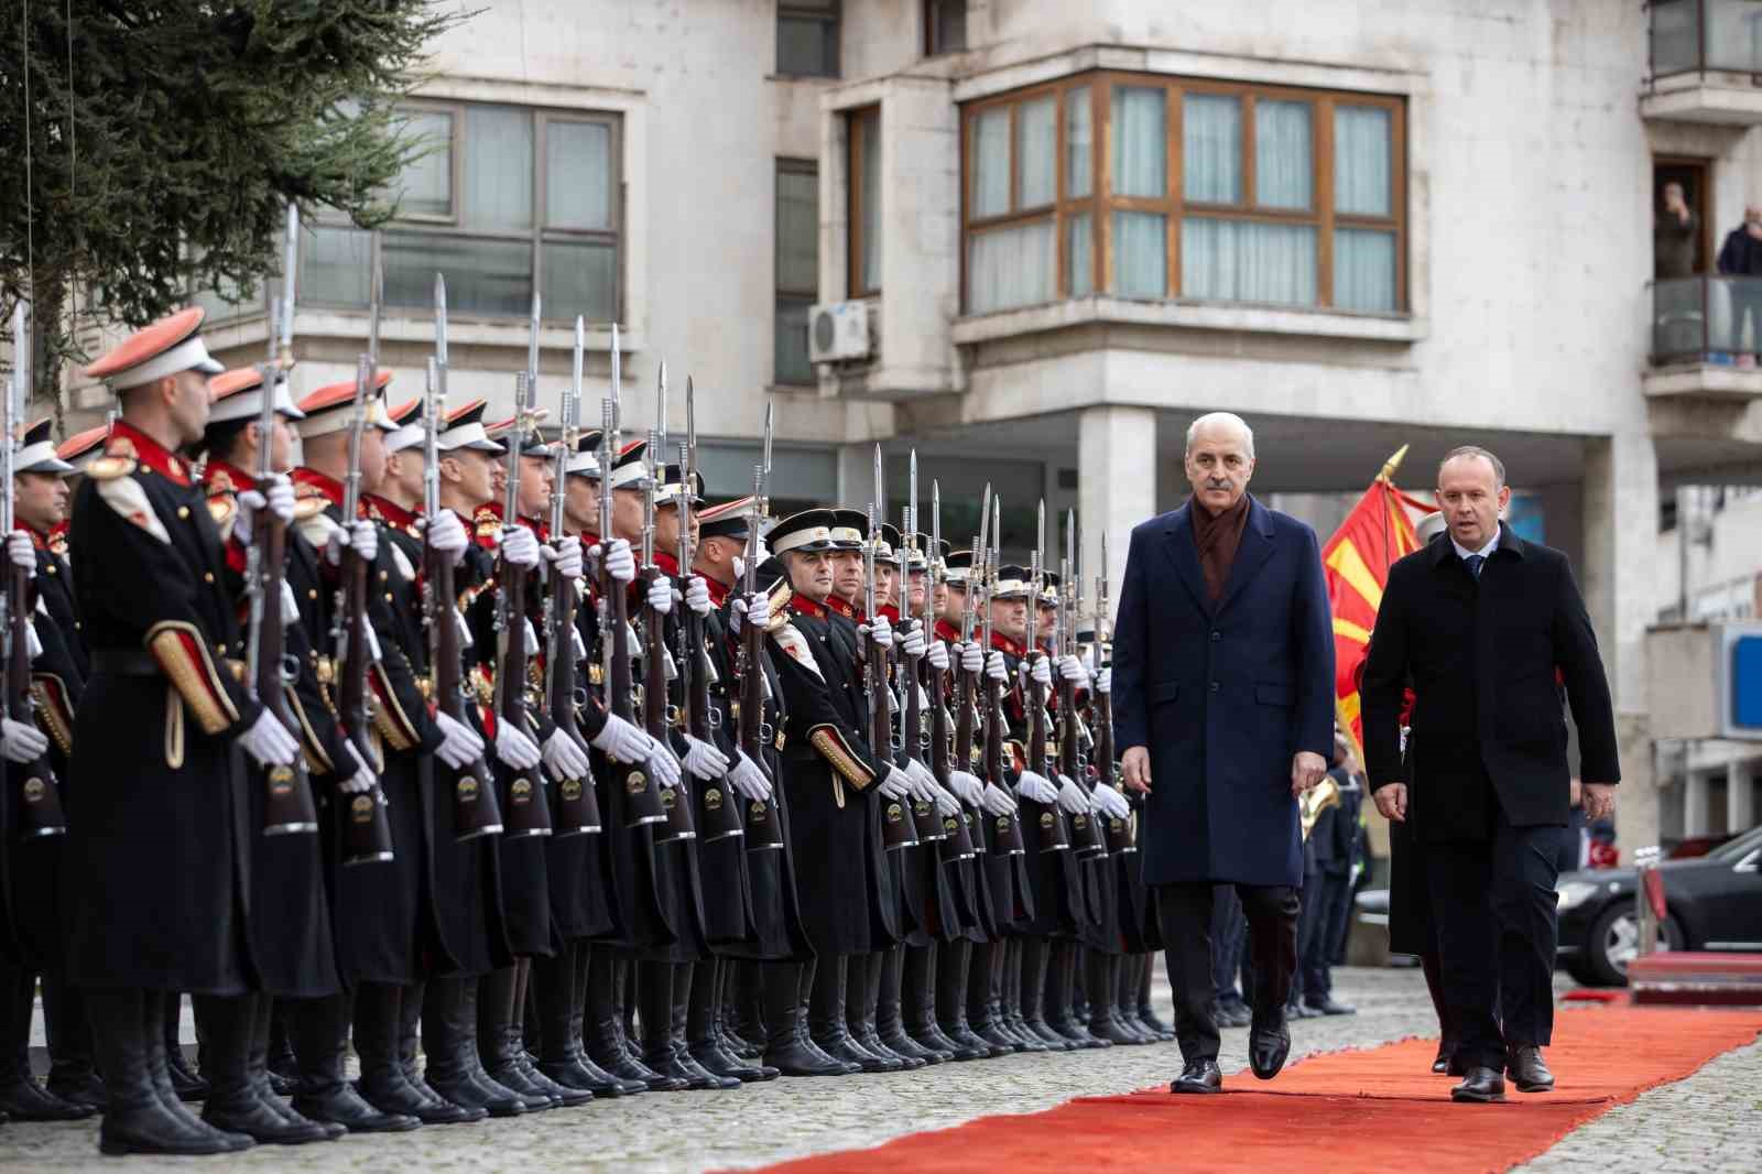
{"type": "Polygon", "coordinates": [[[1503,811],[1489,839],[1425,846],[1443,996],[1470,1066],[1503,1070],[1508,1049],[1552,1040],[1558,846],[1558,827],[1512,827],[1503,811]]]}

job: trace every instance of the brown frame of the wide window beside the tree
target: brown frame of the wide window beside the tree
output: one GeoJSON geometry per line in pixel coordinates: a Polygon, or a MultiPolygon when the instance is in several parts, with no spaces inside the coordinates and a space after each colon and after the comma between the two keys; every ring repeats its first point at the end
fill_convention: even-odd
{"type": "MultiPolygon", "coordinates": [[[[400,111],[412,115],[446,115],[449,118],[449,137],[446,141],[448,167],[449,167],[449,192],[448,192],[448,210],[444,213],[409,213],[402,212],[393,220],[386,222],[379,229],[374,229],[368,240],[370,250],[377,249],[384,252],[384,240],[391,236],[430,236],[435,240],[458,240],[458,241],[507,241],[507,243],[525,243],[530,249],[529,254],[529,277],[530,287],[536,291],[544,289],[544,252],[546,245],[601,245],[611,250],[611,317],[617,321],[624,319],[626,312],[626,291],[627,291],[627,241],[626,241],[626,192],[624,192],[624,116],[617,111],[599,111],[599,109],[557,109],[544,106],[520,106],[511,102],[463,102],[463,100],[437,100],[437,99],[412,99],[400,104],[400,111]],[[465,185],[465,153],[462,150],[465,115],[467,109],[500,109],[515,111],[530,118],[532,125],[532,185],[530,185],[530,227],[525,229],[507,229],[507,227],[486,227],[463,224],[462,192],[465,185]],[[571,127],[571,125],[592,125],[604,127],[608,132],[608,175],[606,175],[606,199],[608,199],[608,226],[604,227],[581,227],[571,224],[552,222],[550,203],[550,152],[546,150],[546,141],[552,127],[571,127]],[[377,240],[374,240],[377,238],[377,240]]],[[[319,231],[354,231],[368,236],[366,231],[356,229],[347,219],[328,213],[315,217],[314,229],[319,231]]],[[[301,268],[310,263],[312,241],[303,241],[301,247],[301,268]]],[[[372,256],[372,254],[370,254],[372,256]]],[[[300,296],[303,303],[322,305],[333,308],[361,310],[366,308],[365,300],[324,300],[317,282],[300,282],[300,296]],[[308,291],[312,291],[308,294],[308,291]]],[[[544,300],[552,301],[550,298],[544,300]]],[[[388,305],[403,307],[405,301],[393,300],[388,289],[388,305]]],[[[428,305],[426,293],[421,301],[412,301],[409,305],[428,305]]],[[[578,310],[569,307],[541,305],[541,312],[550,321],[573,321],[578,310]]],[[[470,310],[460,307],[456,317],[470,321],[518,321],[525,317],[525,312],[486,312],[470,310]]]]}

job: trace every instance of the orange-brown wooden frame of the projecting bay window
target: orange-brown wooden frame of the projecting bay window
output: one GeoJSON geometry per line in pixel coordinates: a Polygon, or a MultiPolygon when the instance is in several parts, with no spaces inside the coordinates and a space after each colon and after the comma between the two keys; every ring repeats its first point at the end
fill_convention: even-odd
{"type": "MultiPolygon", "coordinates": [[[[1055,252],[1057,252],[1057,270],[1054,279],[1052,300],[1068,300],[1073,296],[1089,296],[1091,293],[1103,296],[1131,296],[1131,294],[1112,294],[1115,287],[1117,275],[1117,257],[1114,256],[1114,213],[1115,212],[1145,212],[1165,217],[1165,293],[1161,300],[1166,301],[1205,301],[1218,305],[1210,298],[1195,298],[1182,291],[1182,273],[1181,273],[1181,226],[1189,217],[1221,219],[1235,222],[1251,224],[1295,224],[1314,227],[1316,231],[1316,289],[1313,303],[1262,303],[1255,301],[1249,305],[1276,305],[1281,308],[1293,310],[1322,310],[1337,314],[1369,314],[1369,316],[1404,316],[1410,312],[1411,301],[1408,293],[1408,247],[1410,247],[1410,224],[1408,224],[1408,130],[1406,130],[1406,99],[1388,93],[1364,93],[1351,90],[1322,90],[1307,86],[1277,86],[1277,85],[1260,85],[1260,83],[1235,83],[1235,81],[1218,81],[1209,78],[1177,78],[1166,74],[1140,74],[1124,71],[1091,71],[1084,74],[1073,74],[1068,78],[1059,78],[1057,81],[1041,83],[1036,86],[1027,86],[1022,90],[1011,90],[1008,93],[999,93],[994,97],[980,99],[962,106],[960,116],[960,224],[962,224],[962,249],[960,249],[960,291],[962,291],[962,308],[967,314],[992,312],[992,310],[973,310],[973,273],[971,273],[971,243],[974,236],[987,231],[1010,229],[1024,224],[1045,222],[1047,219],[1054,224],[1055,252]],[[1147,196],[1117,196],[1114,192],[1114,120],[1112,120],[1112,100],[1114,88],[1147,88],[1163,90],[1165,108],[1163,108],[1163,134],[1165,134],[1165,164],[1166,176],[1163,182],[1161,197],[1147,196]],[[1087,92],[1087,93],[1085,93],[1087,92]],[[1188,201],[1184,196],[1184,122],[1182,122],[1182,99],[1186,95],[1216,95],[1216,97],[1233,97],[1240,100],[1240,203],[1200,203],[1188,201]],[[1054,127],[1055,127],[1055,148],[1054,148],[1054,169],[1055,169],[1055,190],[1050,201],[1040,201],[1033,206],[1024,206],[1020,203],[1022,194],[1022,152],[1018,150],[1018,122],[1022,109],[1031,102],[1052,97],[1054,106],[1054,127]],[[1073,102],[1087,99],[1089,102],[1089,192],[1082,196],[1071,196],[1071,173],[1068,164],[1068,127],[1070,116],[1068,108],[1073,102]],[[1311,106],[1311,208],[1309,210],[1290,210],[1290,208],[1269,208],[1255,203],[1256,196],[1256,176],[1255,176],[1255,134],[1256,134],[1256,116],[1255,104],[1258,100],[1299,100],[1311,106]],[[1334,167],[1334,111],[1337,106],[1353,108],[1374,108],[1388,113],[1388,171],[1390,171],[1390,192],[1388,192],[1388,215],[1357,215],[1336,210],[1336,167],[1334,167]],[[1010,206],[1008,210],[994,215],[974,215],[976,204],[976,185],[978,185],[978,120],[997,109],[1010,111],[1010,206]],[[1089,282],[1077,282],[1078,289],[1073,291],[1073,264],[1071,264],[1071,233],[1068,224],[1071,217],[1089,217],[1089,256],[1091,256],[1091,273],[1089,282]],[[1371,229],[1394,234],[1394,308],[1392,310],[1351,310],[1336,307],[1336,286],[1334,286],[1334,233],[1336,229],[1371,229]]],[[[855,155],[853,155],[855,159],[855,155]]],[[[853,254],[855,256],[855,254],[853,254]]],[[[1228,301],[1225,301],[1228,305],[1228,301]]],[[[1043,305],[1029,303],[1029,305],[1043,305]]],[[[1008,307],[1008,308],[1025,308],[1008,307]]]]}

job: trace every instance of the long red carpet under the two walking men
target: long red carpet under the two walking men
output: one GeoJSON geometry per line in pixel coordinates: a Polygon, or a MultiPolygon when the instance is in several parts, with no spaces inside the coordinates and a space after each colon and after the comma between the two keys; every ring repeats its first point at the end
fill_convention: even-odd
{"type": "MultiPolygon", "coordinates": [[[[1762,1031],[1762,1012],[1598,1007],[1554,1022],[1552,1093],[1508,1091],[1503,1105],[1455,1105],[1448,1077],[1431,1075],[1434,1040],[1327,1052],[1276,1081],[1225,1077],[1223,1096],[1147,1089],[1085,1096],[1022,1116],[980,1118],[911,1133],[876,1149],[766,1167],[791,1174],[876,1170],[1292,1170],[1427,1174],[1503,1170],[1572,1128],[1681,1081],[1762,1031]]],[[[1179,1054],[1168,1049],[1170,1065],[1179,1054]]]]}

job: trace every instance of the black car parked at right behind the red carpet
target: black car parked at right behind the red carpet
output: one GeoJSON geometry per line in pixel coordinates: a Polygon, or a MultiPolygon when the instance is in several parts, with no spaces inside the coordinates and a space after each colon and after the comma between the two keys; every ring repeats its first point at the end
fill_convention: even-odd
{"type": "MultiPolygon", "coordinates": [[[[1665,860],[1667,950],[1762,950],[1762,827],[1704,857],[1665,860]]],[[[1559,892],[1559,959],[1588,987],[1626,985],[1639,945],[1633,869],[1566,873],[1559,892]]]]}

